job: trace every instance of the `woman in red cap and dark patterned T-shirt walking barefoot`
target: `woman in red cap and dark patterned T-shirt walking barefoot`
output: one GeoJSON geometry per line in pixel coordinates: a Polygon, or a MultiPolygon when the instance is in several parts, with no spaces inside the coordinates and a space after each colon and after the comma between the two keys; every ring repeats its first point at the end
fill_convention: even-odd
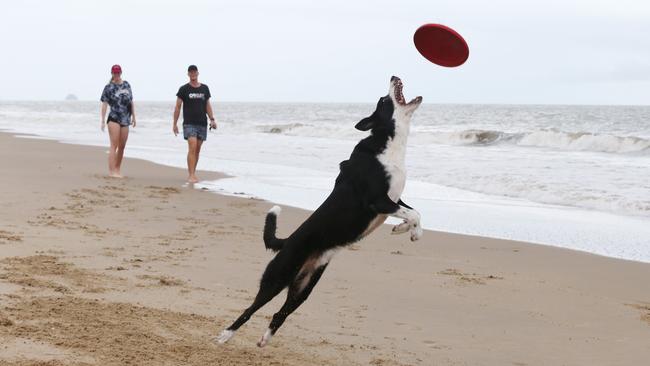
{"type": "Polygon", "coordinates": [[[133,93],[131,85],[122,80],[122,68],[120,65],[111,67],[111,81],[104,87],[101,97],[101,128],[108,125],[108,135],[111,142],[111,149],[108,153],[109,176],[122,178],[120,168],[124,147],[129,138],[129,126],[135,127],[135,107],[133,105],[133,93]],[[111,111],[106,119],[106,107],[110,106],[111,111]]]}

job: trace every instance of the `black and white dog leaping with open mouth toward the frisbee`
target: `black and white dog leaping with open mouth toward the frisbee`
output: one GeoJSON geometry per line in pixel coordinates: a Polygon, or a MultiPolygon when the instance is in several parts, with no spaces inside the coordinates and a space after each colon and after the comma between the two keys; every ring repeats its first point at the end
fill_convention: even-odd
{"type": "Polygon", "coordinates": [[[264,347],[287,316],[307,299],[332,256],[370,234],[388,216],[404,220],[393,227],[393,233],[409,231],[412,241],[420,239],[420,214],[400,199],[406,181],[404,158],[411,116],[420,103],[422,97],[406,103],[402,82],[393,76],[388,95],[379,99],[370,117],[355,126],[371,130],[371,134],[357,144],[350,159],[341,162],[336,184],[325,202],[286,239],[275,237],[280,207],[269,211],[264,244],[277,254],[262,275],[253,304],[216,341],[227,342],[253,313],[288,287],[286,302],[257,343],[264,347]]]}

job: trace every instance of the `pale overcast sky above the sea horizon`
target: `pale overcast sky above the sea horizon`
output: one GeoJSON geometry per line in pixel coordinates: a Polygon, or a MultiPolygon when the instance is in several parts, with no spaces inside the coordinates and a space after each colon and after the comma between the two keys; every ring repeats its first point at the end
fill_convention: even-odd
{"type": "Polygon", "coordinates": [[[642,0],[21,0],[0,37],[0,100],[98,100],[119,63],[136,100],[173,101],[196,64],[215,102],[375,102],[397,75],[429,103],[650,104],[642,0]],[[425,23],[467,63],[420,56],[425,23]]]}

